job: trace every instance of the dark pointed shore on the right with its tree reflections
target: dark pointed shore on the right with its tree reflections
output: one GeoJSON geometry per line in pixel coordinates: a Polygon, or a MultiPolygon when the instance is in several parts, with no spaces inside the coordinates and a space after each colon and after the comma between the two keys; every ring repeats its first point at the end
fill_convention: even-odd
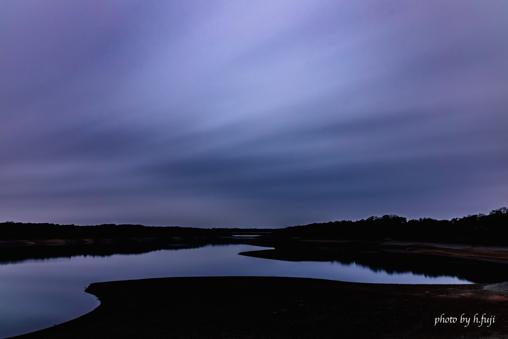
{"type": "Polygon", "coordinates": [[[508,281],[508,248],[429,242],[292,239],[240,255],[284,261],[356,263],[373,271],[452,275],[471,283],[508,281]]]}

